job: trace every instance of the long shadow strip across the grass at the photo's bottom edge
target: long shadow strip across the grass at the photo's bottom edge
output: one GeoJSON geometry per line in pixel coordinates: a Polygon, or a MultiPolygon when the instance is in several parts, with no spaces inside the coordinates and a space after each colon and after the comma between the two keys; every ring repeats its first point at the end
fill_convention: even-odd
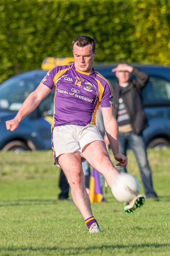
{"type": "MultiPolygon", "coordinates": [[[[79,255],[81,254],[87,254],[87,253],[93,253],[96,252],[96,250],[119,250],[119,249],[130,249],[133,250],[134,249],[146,249],[146,248],[150,248],[150,249],[156,249],[156,248],[160,248],[163,249],[165,247],[169,247],[170,244],[166,243],[166,244],[157,244],[157,243],[142,243],[142,244],[133,244],[133,245],[99,245],[99,246],[87,246],[87,247],[83,247],[83,246],[79,246],[79,247],[60,247],[60,246],[42,246],[42,247],[33,247],[33,246],[28,246],[28,247],[22,247],[22,246],[7,246],[7,247],[0,247],[1,252],[3,251],[8,251],[8,252],[15,252],[15,251],[35,251],[35,252],[48,252],[48,251],[55,251],[55,253],[57,253],[56,255],[79,255]]],[[[105,251],[106,252],[106,251],[105,251]]]]}

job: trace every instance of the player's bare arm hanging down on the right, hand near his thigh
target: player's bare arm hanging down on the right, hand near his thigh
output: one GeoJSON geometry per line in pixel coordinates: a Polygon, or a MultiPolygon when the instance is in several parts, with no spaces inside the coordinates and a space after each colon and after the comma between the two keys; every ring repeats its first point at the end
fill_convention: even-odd
{"type": "Polygon", "coordinates": [[[117,121],[114,117],[113,107],[102,108],[102,114],[106,134],[111,145],[111,150],[114,154],[114,158],[119,162],[117,166],[127,165],[127,157],[119,153],[119,132],[117,121]]]}

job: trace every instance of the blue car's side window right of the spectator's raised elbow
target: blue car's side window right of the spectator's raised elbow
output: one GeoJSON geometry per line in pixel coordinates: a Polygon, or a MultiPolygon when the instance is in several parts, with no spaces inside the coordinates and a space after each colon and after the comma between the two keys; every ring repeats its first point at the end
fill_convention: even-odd
{"type": "Polygon", "coordinates": [[[143,104],[170,103],[170,82],[159,76],[150,76],[142,91],[143,104]]]}

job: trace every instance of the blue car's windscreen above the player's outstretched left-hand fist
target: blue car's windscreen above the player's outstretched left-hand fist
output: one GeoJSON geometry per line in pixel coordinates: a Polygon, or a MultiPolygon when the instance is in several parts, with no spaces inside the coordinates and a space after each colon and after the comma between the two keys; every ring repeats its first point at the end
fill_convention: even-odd
{"type": "Polygon", "coordinates": [[[29,78],[10,78],[0,86],[0,110],[18,111],[28,97],[41,82],[35,77],[29,78]]]}

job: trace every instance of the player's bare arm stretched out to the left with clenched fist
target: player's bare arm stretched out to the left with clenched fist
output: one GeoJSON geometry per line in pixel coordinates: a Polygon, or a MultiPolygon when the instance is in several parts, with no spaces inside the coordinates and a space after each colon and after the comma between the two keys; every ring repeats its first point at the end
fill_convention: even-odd
{"type": "Polygon", "coordinates": [[[46,85],[40,83],[39,86],[33,91],[22,104],[16,117],[12,120],[6,121],[7,130],[14,131],[29,113],[31,113],[39,103],[49,94],[51,91],[46,85]]]}

